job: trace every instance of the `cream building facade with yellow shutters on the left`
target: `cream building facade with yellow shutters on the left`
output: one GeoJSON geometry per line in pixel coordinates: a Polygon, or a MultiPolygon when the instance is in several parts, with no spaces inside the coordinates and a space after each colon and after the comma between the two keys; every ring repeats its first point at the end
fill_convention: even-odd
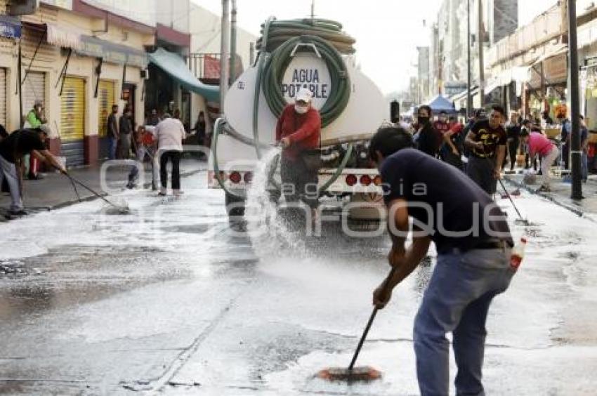
{"type": "MultiPolygon", "coordinates": [[[[0,13],[10,18],[11,1],[0,0],[0,13]]],[[[20,37],[0,39],[1,121],[8,131],[19,128],[41,100],[51,151],[65,157],[67,166],[96,164],[107,154],[107,109],[113,103],[143,108],[141,95],[127,96],[126,87],[142,86],[145,46],[153,44],[155,29],[81,0],[41,1],[15,24],[20,37]],[[19,46],[22,114],[15,89],[19,46]]],[[[143,122],[142,111],[135,122],[143,122]]]]}

